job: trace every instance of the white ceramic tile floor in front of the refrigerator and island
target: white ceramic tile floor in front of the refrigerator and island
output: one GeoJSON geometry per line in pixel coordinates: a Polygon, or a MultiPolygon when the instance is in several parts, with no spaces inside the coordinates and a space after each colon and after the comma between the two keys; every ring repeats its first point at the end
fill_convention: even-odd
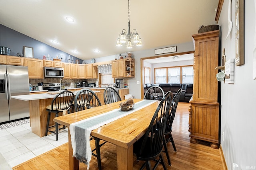
{"type": "MultiPolygon", "coordinates": [[[[30,123],[0,130],[0,153],[14,167],[68,142],[68,129],[40,138],[31,132],[30,123]]],[[[1,169],[1,168],[0,168],[1,169]]]]}

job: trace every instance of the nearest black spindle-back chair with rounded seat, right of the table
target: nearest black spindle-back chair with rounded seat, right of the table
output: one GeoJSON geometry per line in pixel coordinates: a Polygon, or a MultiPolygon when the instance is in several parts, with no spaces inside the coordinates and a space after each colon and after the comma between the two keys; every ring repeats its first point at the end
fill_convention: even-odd
{"type": "Polygon", "coordinates": [[[134,143],[134,153],[137,156],[137,160],[146,161],[140,170],[142,170],[145,166],[147,170],[151,170],[152,167],[150,160],[156,161],[153,170],[156,169],[159,163],[163,165],[164,170],[167,169],[162,151],[164,132],[166,129],[171,101],[172,93],[167,92],[158,105],[145,135],[134,143]],[[156,158],[158,157],[159,159],[157,160],[156,158]]]}

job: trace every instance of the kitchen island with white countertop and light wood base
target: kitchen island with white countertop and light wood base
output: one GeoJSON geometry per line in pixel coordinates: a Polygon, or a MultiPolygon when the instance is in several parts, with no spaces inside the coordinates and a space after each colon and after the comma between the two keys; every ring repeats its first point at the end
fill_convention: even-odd
{"type": "MultiPolygon", "coordinates": [[[[64,90],[55,91],[56,93],[62,92],[64,90]]],[[[98,93],[98,90],[92,90],[94,93],[98,93]]],[[[77,91],[73,91],[74,95],[76,95],[77,91]]],[[[30,110],[30,126],[32,132],[40,137],[45,136],[46,131],[46,122],[48,112],[46,111],[46,106],[52,104],[52,99],[57,94],[28,94],[28,95],[20,95],[20,96],[12,96],[14,99],[29,101],[29,110],[30,110]]],[[[54,125],[53,121],[54,115],[51,115],[50,125],[54,125]]]]}

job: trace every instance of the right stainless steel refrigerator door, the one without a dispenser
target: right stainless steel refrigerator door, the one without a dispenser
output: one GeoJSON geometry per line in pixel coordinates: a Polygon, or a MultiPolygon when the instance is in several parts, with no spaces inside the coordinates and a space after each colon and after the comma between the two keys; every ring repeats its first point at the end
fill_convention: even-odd
{"type": "Polygon", "coordinates": [[[29,102],[11,96],[29,94],[28,67],[6,66],[10,120],[29,117],[29,102]]]}

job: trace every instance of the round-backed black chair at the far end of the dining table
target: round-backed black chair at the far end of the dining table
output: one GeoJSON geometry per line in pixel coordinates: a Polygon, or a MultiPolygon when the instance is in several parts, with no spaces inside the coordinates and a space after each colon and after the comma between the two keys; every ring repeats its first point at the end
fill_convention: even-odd
{"type": "Polygon", "coordinates": [[[143,99],[148,100],[162,100],[164,97],[164,90],[159,86],[152,86],[144,94],[143,99]]]}

